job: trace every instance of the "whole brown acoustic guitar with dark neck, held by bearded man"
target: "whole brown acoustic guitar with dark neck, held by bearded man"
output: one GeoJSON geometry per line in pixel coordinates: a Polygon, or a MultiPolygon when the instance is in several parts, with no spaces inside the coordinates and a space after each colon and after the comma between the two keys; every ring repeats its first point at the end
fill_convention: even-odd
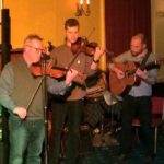
{"type": "Polygon", "coordinates": [[[141,70],[151,70],[153,68],[160,68],[160,63],[163,62],[163,58],[160,58],[155,61],[145,63],[143,66],[138,66],[133,61],[127,61],[125,63],[116,62],[115,67],[120,69],[125,73],[124,79],[118,79],[117,74],[114,71],[109,72],[109,87],[110,91],[116,95],[125,95],[131,86],[133,86],[137,83],[137,80],[139,77],[136,75],[136,71],[138,68],[141,70]]]}

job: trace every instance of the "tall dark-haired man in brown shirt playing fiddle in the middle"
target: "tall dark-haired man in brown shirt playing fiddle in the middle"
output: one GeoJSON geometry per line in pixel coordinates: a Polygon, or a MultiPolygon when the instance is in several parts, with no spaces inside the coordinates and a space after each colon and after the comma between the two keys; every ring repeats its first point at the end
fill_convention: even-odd
{"type": "Polygon", "coordinates": [[[83,74],[92,74],[98,68],[98,61],[104,52],[96,47],[93,56],[86,56],[84,51],[78,50],[74,55],[71,45],[79,38],[79,22],[75,19],[68,19],[65,23],[66,43],[51,52],[52,66],[73,69],[78,71],[68,96],[62,99],[54,99],[51,139],[49,144],[49,164],[58,164],[60,153],[61,131],[67,118],[68,125],[68,147],[66,160],[67,164],[77,164],[78,148],[80,139],[80,124],[83,110],[83,97],[85,95],[83,74]]]}

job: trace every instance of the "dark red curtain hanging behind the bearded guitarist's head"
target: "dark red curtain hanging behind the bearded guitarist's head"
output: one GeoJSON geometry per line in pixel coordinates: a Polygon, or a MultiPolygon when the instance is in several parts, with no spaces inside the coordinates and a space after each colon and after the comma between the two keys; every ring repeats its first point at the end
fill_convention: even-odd
{"type": "Polygon", "coordinates": [[[144,33],[151,50],[151,0],[105,0],[106,48],[115,56],[129,49],[136,33],[144,33]]]}

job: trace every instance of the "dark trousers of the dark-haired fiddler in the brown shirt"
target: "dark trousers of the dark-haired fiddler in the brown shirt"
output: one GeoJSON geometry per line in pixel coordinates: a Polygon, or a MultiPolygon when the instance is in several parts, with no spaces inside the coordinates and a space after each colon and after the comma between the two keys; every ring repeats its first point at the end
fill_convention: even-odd
{"type": "Polygon", "coordinates": [[[82,101],[52,103],[51,137],[49,142],[49,164],[57,164],[60,153],[60,140],[67,118],[68,145],[67,164],[75,164],[80,141],[80,124],[83,110],[82,101]]]}

